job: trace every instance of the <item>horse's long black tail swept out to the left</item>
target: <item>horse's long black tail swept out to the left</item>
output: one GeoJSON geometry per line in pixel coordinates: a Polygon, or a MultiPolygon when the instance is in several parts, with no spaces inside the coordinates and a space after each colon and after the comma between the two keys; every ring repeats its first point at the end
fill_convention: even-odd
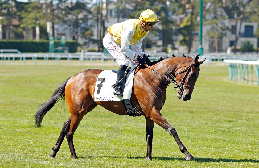
{"type": "Polygon", "coordinates": [[[68,82],[68,80],[71,77],[67,78],[64,82],[60,84],[60,86],[55,90],[55,92],[52,94],[52,96],[43,104],[39,105],[41,106],[40,109],[36,112],[34,115],[35,119],[35,127],[39,128],[41,127],[41,122],[45,114],[55,105],[55,103],[59,99],[65,98],[65,87],[68,82]]]}

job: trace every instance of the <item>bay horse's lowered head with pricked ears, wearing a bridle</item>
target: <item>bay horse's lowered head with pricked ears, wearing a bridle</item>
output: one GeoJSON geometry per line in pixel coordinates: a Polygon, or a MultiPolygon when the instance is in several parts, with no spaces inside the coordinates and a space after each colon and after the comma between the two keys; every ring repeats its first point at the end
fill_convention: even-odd
{"type": "MultiPolygon", "coordinates": [[[[188,59],[188,57],[187,57],[188,59]]],[[[190,58],[189,58],[190,59],[190,58]]],[[[188,59],[188,60],[189,60],[188,59]]],[[[199,55],[195,57],[194,60],[189,60],[189,64],[177,64],[175,70],[175,78],[177,82],[177,97],[181,99],[183,97],[184,101],[191,99],[191,94],[194,89],[195,82],[199,76],[199,65],[204,63],[205,59],[199,60],[199,55]]],[[[185,61],[186,62],[186,61],[185,61]]]]}

